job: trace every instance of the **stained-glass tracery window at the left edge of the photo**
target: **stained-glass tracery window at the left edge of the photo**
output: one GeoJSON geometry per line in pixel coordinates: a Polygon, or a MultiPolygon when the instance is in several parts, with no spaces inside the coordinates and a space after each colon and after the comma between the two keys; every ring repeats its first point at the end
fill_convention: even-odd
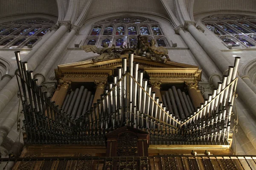
{"type": "Polygon", "coordinates": [[[0,45],[2,48],[26,48],[26,45],[35,44],[39,37],[47,34],[53,25],[52,21],[40,18],[0,23],[0,36],[3,37],[0,45]]]}

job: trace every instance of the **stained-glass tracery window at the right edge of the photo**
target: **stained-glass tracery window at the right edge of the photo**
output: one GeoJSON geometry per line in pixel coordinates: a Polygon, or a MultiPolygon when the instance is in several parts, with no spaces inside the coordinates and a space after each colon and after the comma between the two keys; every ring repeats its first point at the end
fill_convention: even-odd
{"type": "Polygon", "coordinates": [[[250,16],[222,14],[208,16],[202,20],[202,23],[227,45],[254,47],[256,41],[255,20],[255,17],[250,16]],[[223,37],[223,35],[229,35],[229,37],[223,37]]]}

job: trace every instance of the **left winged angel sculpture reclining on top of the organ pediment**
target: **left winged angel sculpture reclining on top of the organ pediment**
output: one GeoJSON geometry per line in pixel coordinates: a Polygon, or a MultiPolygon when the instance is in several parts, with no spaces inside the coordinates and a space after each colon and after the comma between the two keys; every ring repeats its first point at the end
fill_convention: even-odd
{"type": "Polygon", "coordinates": [[[93,58],[93,62],[97,62],[99,60],[103,59],[111,59],[111,58],[119,58],[121,55],[119,53],[116,53],[116,45],[112,45],[110,48],[108,47],[108,44],[103,43],[102,49],[97,48],[95,45],[83,45],[81,48],[85,52],[93,52],[99,54],[96,58],[93,58]]]}

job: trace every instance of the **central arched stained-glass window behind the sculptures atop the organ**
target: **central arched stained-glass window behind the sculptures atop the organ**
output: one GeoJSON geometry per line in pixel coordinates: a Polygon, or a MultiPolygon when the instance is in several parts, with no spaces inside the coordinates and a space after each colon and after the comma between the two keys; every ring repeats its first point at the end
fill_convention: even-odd
{"type": "Polygon", "coordinates": [[[158,46],[169,46],[160,25],[156,21],[133,16],[113,17],[95,23],[87,39],[84,40],[84,44],[101,47],[105,42],[110,46],[112,44],[118,47],[128,44],[134,46],[137,45],[138,34],[149,35],[149,41],[151,39],[154,39],[155,42],[158,41],[159,43],[156,43],[158,46]]]}

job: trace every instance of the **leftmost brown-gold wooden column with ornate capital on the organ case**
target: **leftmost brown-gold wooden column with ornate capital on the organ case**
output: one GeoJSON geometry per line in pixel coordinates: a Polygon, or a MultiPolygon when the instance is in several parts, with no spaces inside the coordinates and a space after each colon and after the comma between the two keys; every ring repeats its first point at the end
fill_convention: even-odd
{"type": "Polygon", "coordinates": [[[56,105],[59,105],[59,108],[63,105],[65,97],[67,96],[67,91],[70,88],[71,81],[64,82],[63,80],[59,80],[60,85],[56,89],[55,93],[52,96],[52,101],[55,101],[56,105]]]}

